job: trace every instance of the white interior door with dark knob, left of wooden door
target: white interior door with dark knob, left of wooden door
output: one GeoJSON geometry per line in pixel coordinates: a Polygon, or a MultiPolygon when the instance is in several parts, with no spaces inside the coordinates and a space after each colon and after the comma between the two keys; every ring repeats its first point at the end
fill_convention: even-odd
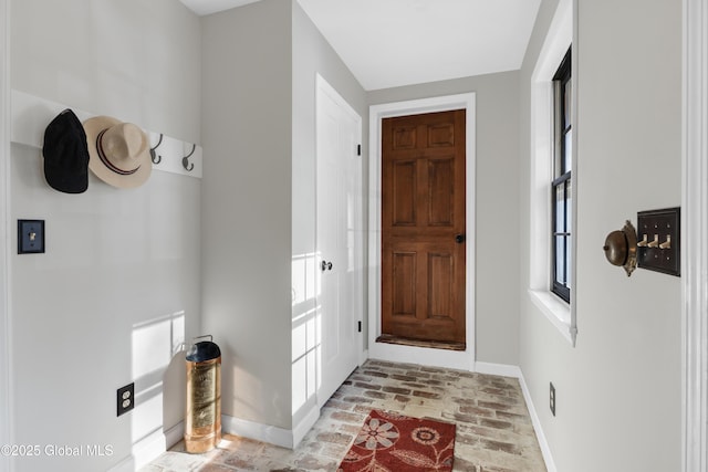
{"type": "Polygon", "coordinates": [[[322,77],[316,95],[317,403],[358,364],[363,335],[362,119],[322,77]]]}

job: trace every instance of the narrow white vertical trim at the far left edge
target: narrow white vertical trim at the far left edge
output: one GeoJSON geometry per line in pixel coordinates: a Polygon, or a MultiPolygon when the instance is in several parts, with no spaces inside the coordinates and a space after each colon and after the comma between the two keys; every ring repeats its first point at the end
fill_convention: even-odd
{"type": "MultiPolygon", "coordinates": [[[[10,0],[0,0],[0,444],[11,444],[12,324],[10,319],[10,0]]],[[[13,470],[11,459],[0,459],[0,472],[13,470]]]]}

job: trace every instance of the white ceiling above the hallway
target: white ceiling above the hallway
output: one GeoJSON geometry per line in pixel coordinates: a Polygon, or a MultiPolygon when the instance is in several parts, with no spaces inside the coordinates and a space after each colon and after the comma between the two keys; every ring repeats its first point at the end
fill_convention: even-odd
{"type": "MultiPolygon", "coordinates": [[[[210,14],[258,0],[180,0],[210,14]]],[[[298,0],[367,91],[521,67],[541,0],[298,0]]]]}

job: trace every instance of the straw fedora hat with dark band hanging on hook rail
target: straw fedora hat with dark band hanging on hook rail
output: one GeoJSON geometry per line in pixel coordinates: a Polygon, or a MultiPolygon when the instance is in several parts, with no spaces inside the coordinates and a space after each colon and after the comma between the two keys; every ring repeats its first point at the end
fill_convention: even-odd
{"type": "Polygon", "coordinates": [[[117,188],[133,188],[150,176],[150,145],[139,127],[110,116],[96,116],[84,122],[84,130],[88,168],[101,180],[117,188]]]}

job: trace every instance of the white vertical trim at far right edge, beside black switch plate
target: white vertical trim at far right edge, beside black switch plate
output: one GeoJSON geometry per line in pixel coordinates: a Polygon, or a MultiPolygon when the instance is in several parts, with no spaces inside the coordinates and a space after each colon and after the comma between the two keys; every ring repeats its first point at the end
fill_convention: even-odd
{"type": "Polygon", "coordinates": [[[708,0],[684,0],[681,470],[708,471],[708,0]]]}

